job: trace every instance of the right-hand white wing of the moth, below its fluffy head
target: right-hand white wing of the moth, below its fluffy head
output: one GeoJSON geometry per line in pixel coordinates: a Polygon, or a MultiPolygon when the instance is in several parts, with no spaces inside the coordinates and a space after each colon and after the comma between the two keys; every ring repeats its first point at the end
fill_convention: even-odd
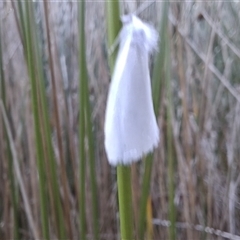
{"type": "Polygon", "coordinates": [[[129,49],[127,66],[120,83],[119,131],[121,131],[122,163],[139,160],[153,150],[159,141],[154,114],[148,52],[139,44],[129,49]]]}

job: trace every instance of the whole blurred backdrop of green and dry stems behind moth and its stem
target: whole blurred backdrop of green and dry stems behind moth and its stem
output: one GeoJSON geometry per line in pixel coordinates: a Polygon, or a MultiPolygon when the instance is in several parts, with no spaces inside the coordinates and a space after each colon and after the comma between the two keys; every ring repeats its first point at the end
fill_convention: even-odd
{"type": "MultiPolygon", "coordinates": [[[[0,239],[119,239],[106,4],[0,1],[0,239]]],[[[240,3],[156,1],[140,18],[160,33],[161,141],[131,166],[135,238],[240,239],[240,3]]]]}

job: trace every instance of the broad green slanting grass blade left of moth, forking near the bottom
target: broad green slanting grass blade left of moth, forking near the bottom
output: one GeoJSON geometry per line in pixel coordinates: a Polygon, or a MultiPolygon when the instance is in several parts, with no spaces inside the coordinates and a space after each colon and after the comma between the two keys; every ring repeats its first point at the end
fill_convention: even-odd
{"type": "Polygon", "coordinates": [[[32,105],[34,114],[34,125],[37,144],[37,162],[40,183],[40,203],[43,237],[49,239],[48,210],[47,210],[47,188],[45,177],[48,178],[49,196],[53,210],[54,224],[57,236],[65,238],[65,227],[63,212],[58,187],[56,162],[51,140],[51,130],[47,110],[47,99],[44,87],[44,71],[40,57],[40,49],[35,26],[35,17],[32,2],[25,2],[26,6],[26,28],[27,29],[27,63],[31,80],[32,105]]]}

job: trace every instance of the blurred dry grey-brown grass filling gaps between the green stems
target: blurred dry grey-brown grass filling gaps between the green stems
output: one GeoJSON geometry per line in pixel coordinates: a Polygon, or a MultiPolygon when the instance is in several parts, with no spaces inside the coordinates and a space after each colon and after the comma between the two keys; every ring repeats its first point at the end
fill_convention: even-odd
{"type": "MultiPolygon", "coordinates": [[[[125,2],[126,9],[135,3],[125,2]]],[[[159,25],[162,4],[141,15],[159,25]]],[[[86,6],[87,67],[94,121],[101,239],[117,239],[116,172],[104,150],[104,112],[110,74],[107,63],[104,3],[86,6]]],[[[78,191],[78,33],[76,2],[50,2],[49,25],[56,80],[59,126],[54,118],[54,96],[49,80],[49,55],[43,4],[36,4],[39,38],[43,47],[45,87],[51,116],[62,201],[67,197],[71,219],[69,236],[79,238],[78,191]],[[58,129],[59,127],[59,129],[58,129]],[[61,133],[60,136],[57,134],[61,133]],[[60,143],[57,139],[61,139],[60,143]],[[62,147],[62,148],[61,148],[62,147]],[[66,166],[62,169],[62,166],[66,166]],[[66,173],[66,176],[64,175],[66,173]],[[66,179],[65,179],[66,177],[66,179]],[[62,182],[62,180],[64,182],[62,182]],[[65,185],[64,185],[65,184],[65,185]]],[[[240,235],[240,4],[236,2],[172,2],[170,123],[173,129],[174,202],[177,239],[239,239],[240,235]],[[188,224],[182,224],[188,223],[188,224]],[[205,227],[210,228],[205,228],[205,227]],[[219,229],[216,232],[213,229],[219,229]],[[232,234],[232,235],[230,235],[232,234]]],[[[39,185],[36,167],[30,85],[23,47],[11,2],[0,2],[1,42],[6,101],[0,111],[0,238],[14,238],[14,203],[21,239],[40,234],[39,185]],[[5,116],[6,111],[6,116],[5,116]],[[7,122],[7,132],[4,130],[7,122]],[[8,161],[8,141],[13,163],[8,161]],[[32,219],[33,220],[32,220],[32,219]],[[31,225],[31,224],[32,225],[31,225]]],[[[0,78],[0,87],[1,87],[0,78]]],[[[163,77],[164,81],[164,77],[163,77]]],[[[0,89],[1,90],[1,89],[0,89]]],[[[1,96],[1,95],[0,95],[1,96]]],[[[3,96],[1,96],[3,99],[3,96]]],[[[160,104],[161,142],[154,156],[151,181],[154,239],[169,238],[167,184],[166,89],[160,104]]],[[[56,114],[56,113],[55,113],[56,114]]],[[[168,123],[169,124],[169,123],[168,123]]],[[[133,186],[139,186],[142,168],[135,166],[133,186]],[[139,178],[139,179],[138,179],[139,178]]],[[[86,175],[86,188],[90,176],[86,175]]],[[[139,192],[136,189],[135,201],[139,192]]],[[[86,191],[87,203],[91,194],[86,191]]],[[[66,202],[66,200],[64,201],[66,202]]],[[[65,206],[66,207],[66,206],[65,206]]],[[[135,205],[137,207],[137,205],[135,205]]],[[[67,210],[66,210],[67,211],[67,210]]],[[[135,210],[136,212],[136,210],[135,210]]],[[[65,212],[66,213],[66,212],[65,212]]],[[[86,205],[87,232],[92,236],[91,205],[86,205]]],[[[136,217],[136,216],[135,216],[136,217]]],[[[137,218],[137,217],[136,217],[137,218]]],[[[49,224],[53,225],[49,209],[49,224]]],[[[67,224],[67,222],[65,223],[67,224]]],[[[55,237],[54,229],[51,237],[55,237]]]]}

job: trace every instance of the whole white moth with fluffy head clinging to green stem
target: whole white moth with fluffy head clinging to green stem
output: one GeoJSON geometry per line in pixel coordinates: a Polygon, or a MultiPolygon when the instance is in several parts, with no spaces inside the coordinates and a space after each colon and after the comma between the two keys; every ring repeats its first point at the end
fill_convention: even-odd
{"type": "Polygon", "coordinates": [[[148,65],[149,54],[157,47],[158,34],[134,15],[124,16],[122,22],[104,126],[111,165],[131,164],[159,142],[148,65]]]}

